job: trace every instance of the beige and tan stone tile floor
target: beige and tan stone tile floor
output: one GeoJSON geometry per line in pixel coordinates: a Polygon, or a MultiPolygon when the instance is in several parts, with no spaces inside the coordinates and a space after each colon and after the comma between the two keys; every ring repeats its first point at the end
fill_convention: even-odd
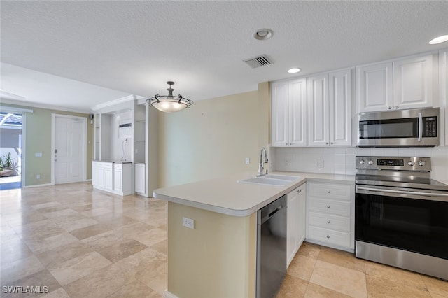
{"type": "MultiPolygon", "coordinates": [[[[0,296],[162,297],[166,208],[90,183],[0,191],[0,296]],[[48,293],[3,292],[15,285],[48,293]]],[[[448,297],[448,282],[304,243],[277,297],[448,297]]]]}

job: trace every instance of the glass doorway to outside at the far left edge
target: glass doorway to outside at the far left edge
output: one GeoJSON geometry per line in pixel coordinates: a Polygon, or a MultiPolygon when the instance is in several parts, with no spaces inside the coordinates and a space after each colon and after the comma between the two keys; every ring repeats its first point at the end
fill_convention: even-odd
{"type": "Polygon", "coordinates": [[[23,116],[0,112],[0,190],[22,187],[23,116]]]}

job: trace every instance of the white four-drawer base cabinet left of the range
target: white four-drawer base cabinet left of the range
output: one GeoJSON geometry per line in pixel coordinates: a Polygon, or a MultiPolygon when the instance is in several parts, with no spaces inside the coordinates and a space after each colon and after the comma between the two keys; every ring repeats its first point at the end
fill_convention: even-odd
{"type": "Polygon", "coordinates": [[[307,183],[307,241],[354,248],[354,185],[307,183]]]}

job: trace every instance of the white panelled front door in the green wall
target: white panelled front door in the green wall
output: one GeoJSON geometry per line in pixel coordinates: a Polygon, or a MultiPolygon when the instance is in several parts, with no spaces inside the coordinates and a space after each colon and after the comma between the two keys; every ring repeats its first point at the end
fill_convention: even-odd
{"type": "Polygon", "coordinates": [[[85,118],[54,118],[55,184],[85,180],[85,118]]]}

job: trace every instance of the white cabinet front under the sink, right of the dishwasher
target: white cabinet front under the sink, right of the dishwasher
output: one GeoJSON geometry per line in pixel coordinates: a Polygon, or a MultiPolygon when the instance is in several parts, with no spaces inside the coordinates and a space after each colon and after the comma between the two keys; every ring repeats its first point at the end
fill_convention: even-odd
{"type": "Polygon", "coordinates": [[[305,239],[306,232],[306,184],[300,185],[288,193],[288,220],[286,227],[286,260],[289,266],[295,253],[299,250],[305,239]]]}

